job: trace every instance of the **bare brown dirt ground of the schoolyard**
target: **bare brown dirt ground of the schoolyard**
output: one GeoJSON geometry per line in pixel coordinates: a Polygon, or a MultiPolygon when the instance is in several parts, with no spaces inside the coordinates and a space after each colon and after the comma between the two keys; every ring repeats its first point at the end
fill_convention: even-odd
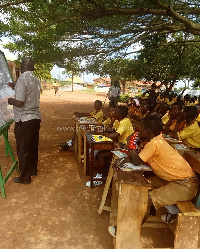
{"type": "MultiPolygon", "coordinates": [[[[103,186],[85,187],[88,177],[73,150],[58,152],[59,143],[72,137],[73,112],[93,110],[96,99],[104,101],[105,94],[60,90],[55,96],[53,90],[45,90],[41,95],[38,176],[30,185],[21,185],[13,182],[14,172],[6,183],[6,199],[0,196],[0,249],[113,248],[109,212],[97,213],[103,186]]],[[[14,124],[9,141],[16,156],[13,128],[14,124]]],[[[2,137],[0,151],[5,175],[10,159],[4,156],[2,137]]],[[[144,248],[173,245],[172,234],[166,229],[143,228],[141,240],[144,248]]]]}

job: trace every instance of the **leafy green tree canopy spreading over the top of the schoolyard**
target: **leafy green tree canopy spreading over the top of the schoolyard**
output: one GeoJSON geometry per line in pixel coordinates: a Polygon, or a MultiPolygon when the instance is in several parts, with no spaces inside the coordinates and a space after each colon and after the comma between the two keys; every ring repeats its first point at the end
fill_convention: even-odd
{"type": "MultiPolygon", "coordinates": [[[[199,53],[198,0],[12,0],[1,1],[0,11],[1,34],[13,38],[7,48],[19,58],[33,56],[38,63],[62,66],[84,60],[85,68],[94,72],[105,61],[134,55],[138,42],[148,51],[140,54],[145,70],[150,61],[161,70],[165,50],[172,56],[167,64],[171,61],[173,67],[183,56],[183,44],[192,44],[187,47],[190,57],[193,47],[199,53]],[[158,56],[153,56],[154,61],[153,54],[158,56]]],[[[182,72],[187,69],[185,62],[182,59],[182,72]]]]}

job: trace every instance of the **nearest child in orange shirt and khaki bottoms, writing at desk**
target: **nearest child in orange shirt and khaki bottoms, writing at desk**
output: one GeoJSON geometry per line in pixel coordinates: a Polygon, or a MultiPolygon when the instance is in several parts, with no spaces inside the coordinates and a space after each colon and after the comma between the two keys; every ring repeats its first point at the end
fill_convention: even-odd
{"type": "Polygon", "coordinates": [[[179,211],[174,204],[192,200],[196,196],[198,179],[188,162],[164,140],[161,132],[162,122],[159,117],[145,118],[139,132],[139,139],[145,146],[139,154],[134,150],[129,151],[129,158],[124,158],[124,162],[129,160],[134,165],[147,163],[155,174],[148,178],[152,190],[149,191],[148,210],[144,221],[148,218],[153,204],[156,210],[166,208],[167,213],[161,218],[171,223],[179,211]]]}

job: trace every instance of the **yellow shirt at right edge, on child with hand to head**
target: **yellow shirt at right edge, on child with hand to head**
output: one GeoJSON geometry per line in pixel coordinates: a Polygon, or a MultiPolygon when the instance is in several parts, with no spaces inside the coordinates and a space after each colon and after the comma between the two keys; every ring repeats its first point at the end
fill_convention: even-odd
{"type": "Polygon", "coordinates": [[[192,148],[200,148],[200,127],[197,122],[185,126],[182,131],[178,132],[179,140],[192,148]]]}

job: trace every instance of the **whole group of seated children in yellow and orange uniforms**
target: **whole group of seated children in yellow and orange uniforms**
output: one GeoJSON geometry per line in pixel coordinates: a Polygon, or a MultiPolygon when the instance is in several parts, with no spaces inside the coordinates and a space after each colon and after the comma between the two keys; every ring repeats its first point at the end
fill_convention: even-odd
{"type": "MultiPolygon", "coordinates": [[[[96,100],[94,112],[88,115],[95,118],[97,123],[104,124],[106,129],[103,135],[115,141],[117,149],[128,154],[120,164],[131,162],[136,166],[143,163],[151,166],[154,175],[149,177],[152,189],[149,191],[144,221],[153,204],[156,210],[160,207],[168,210],[162,218],[170,223],[178,213],[175,204],[192,200],[197,195],[198,178],[188,162],[166,142],[164,134],[182,140],[190,148],[200,149],[200,108],[192,105],[191,100],[188,102],[190,104],[184,106],[183,100],[177,96],[168,99],[168,102],[167,99],[163,101],[160,95],[156,99],[155,94],[149,96],[153,96],[153,103],[144,98],[137,106],[134,99],[130,98],[127,106],[109,106],[106,119],[102,102],[96,100]]],[[[100,180],[94,181],[94,186],[103,184],[101,178],[106,176],[113,157],[111,151],[98,151],[96,154],[96,178],[100,180]]],[[[118,168],[120,164],[114,163],[113,166],[118,168]]],[[[90,181],[86,186],[90,187],[90,181]]],[[[110,231],[114,231],[113,227],[110,231]]]]}

